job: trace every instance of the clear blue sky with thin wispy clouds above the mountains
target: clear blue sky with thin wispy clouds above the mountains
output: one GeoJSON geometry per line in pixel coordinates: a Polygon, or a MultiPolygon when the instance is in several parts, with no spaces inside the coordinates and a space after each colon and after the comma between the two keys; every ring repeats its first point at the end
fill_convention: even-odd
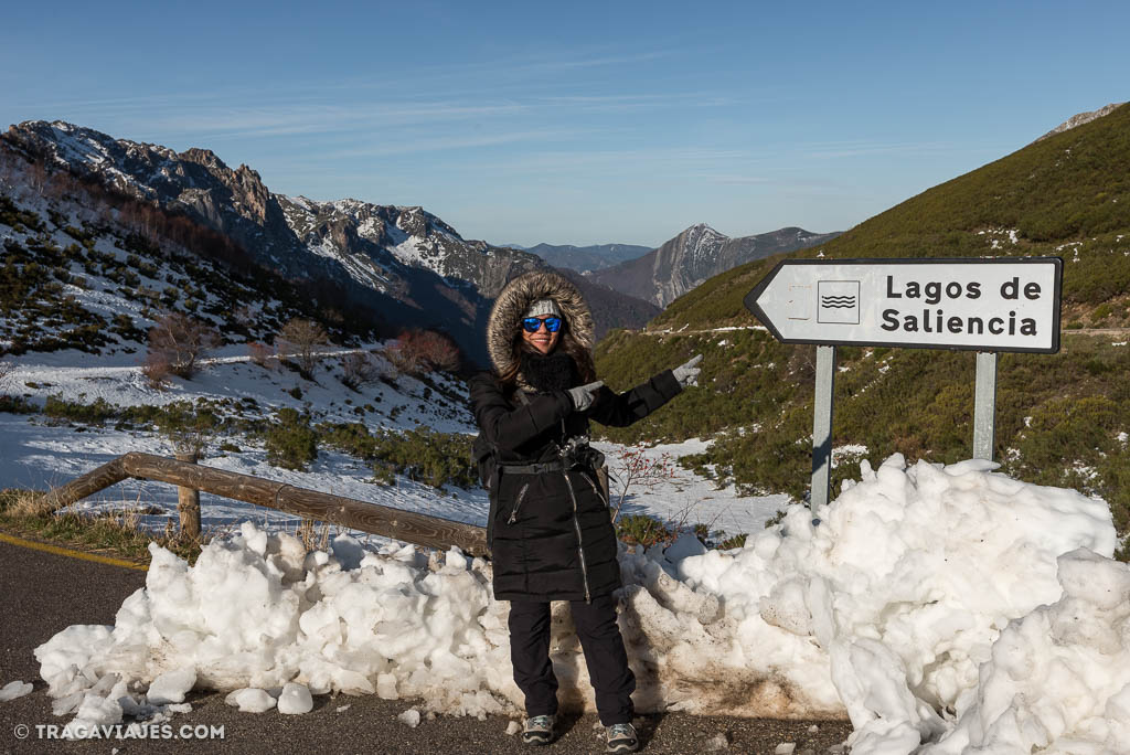
{"type": "Polygon", "coordinates": [[[1130,99],[1128,28],[1124,1],[19,3],[0,121],[492,243],[827,232],[1130,99]]]}

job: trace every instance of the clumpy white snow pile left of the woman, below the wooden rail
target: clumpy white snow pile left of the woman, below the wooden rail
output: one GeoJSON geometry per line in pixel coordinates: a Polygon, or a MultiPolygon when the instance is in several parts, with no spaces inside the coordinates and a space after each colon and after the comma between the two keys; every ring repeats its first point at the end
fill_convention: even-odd
{"type": "Polygon", "coordinates": [[[35,650],[49,694],[75,703],[61,712],[85,704],[98,710],[80,710],[84,722],[120,722],[118,697],[149,680],[132,702],[180,702],[195,686],[240,691],[227,702],[241,710],[304,713],[311,694],[344,692],[481,717],[508,710],[492,689],[518,697],[506,604],[489,597],[483,559],[453,549],[441,563],[414,546],[366,553],[347,536],[307,554],[250,522],[191,567],[149,547],[146,588],[113,627],[71,626],[35,650]],[[277,703],[259,694],[276,688],[277,703]]]}

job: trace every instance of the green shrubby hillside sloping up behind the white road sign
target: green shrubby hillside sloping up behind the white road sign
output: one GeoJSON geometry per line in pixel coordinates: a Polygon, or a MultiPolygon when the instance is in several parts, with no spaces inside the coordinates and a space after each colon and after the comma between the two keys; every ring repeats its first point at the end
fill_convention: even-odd
{"type": "MultiPolygon", "coordinates": [[[[701,388],[617,440],[714,437],[692,460],[750,489],[803,495],[811,471],[815,347],[785,346],[742,297],[785,257],[1058,255],[1064,260],[1057,355],[999,359],[997,448],[1003,470],[1110,502],[1130,528],[1130,106],[944,183],[818,249],[754,262],[673,302],[644,332],[598,345],[619,389],[703,352],[701,388]],[[734,328],[733,330],[719,330],[734,328]],[[1107,329],[1096,333],[1095,329],[1107,329]],[[663,332],[667,331],[667,332],[663,332]]],[[[951,462],[972,454],[970,352],[842,348],[835,479],[895,451],[951,462]]]]}

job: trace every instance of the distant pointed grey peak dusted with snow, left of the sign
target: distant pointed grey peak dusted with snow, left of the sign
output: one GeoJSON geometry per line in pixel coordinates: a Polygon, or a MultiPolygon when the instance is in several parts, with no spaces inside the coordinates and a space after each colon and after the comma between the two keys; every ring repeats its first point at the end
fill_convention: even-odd
{"type": "Polygon", "coordinates": [[[701,223],[643,257],[597,270],[589,278],[666,307],[720,272],[773,254],[815,246],[838,235],[788,227],[731,238],[701,223]]]}

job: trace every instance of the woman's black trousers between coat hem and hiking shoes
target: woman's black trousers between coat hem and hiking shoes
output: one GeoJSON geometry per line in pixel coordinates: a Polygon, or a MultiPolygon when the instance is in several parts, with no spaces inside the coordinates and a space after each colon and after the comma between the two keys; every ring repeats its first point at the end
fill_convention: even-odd
{"type": "MultiPolygon", "coordinates": [[[[570,601],[576,636],[584,650],[589,678],[597,691],[597,711],[603,726],[631,723],[635,709],[632,693],[635,675],[628,668],[620,627],[616,624],[612,596],[570,601]]],[[[549,604],[510,601],[510,659],[514,682],[525,694],[525,712],[553,715],[557,712],[557,677],[549,661],[549,604]]]]}

